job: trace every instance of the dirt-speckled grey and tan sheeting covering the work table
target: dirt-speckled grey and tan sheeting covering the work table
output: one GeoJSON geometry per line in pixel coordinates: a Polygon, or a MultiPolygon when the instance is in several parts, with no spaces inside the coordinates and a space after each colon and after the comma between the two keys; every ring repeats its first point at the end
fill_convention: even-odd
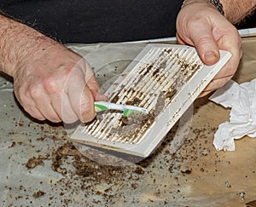
{"type": "MultiPolygon", "coordinates": [[[[68,45],[95,68],[103,90],[144,46],[143,43],[68,45]]],[[[234,77],[238,83],[256,78],[256,38],[244,38],[242,47],[244,55],[234,77]]],[[[0,205],[244,206],[256,199],[256,140],[237,141],[235,152],[217,152],[212,146],[213,135],[218,124],[228,120],[229,109],[204,97],[195,101],[191,112],[186,141],[178,150],[172,142],[178,136],[175,126],[149,158],[139,164],[120,166],[112,173],[107,169],[105,175],[109,174],[111,181],[97,180],[106,171],[97,163],[94,163],[97,171],[94,179],[74,178],[72,156],[63,159],[62,166],[69,170],[67,175],[51,169],[53,152],[67,142],[66,129],[61,124],[39,123],[27,116],[15,101],[11,80],[2,75],[0,205]],[[39,156],[44,157],[44,164],[27,169],[27,161],[39,156]],[[239,196],[241,192],[246,193],[244,201],[239,196]]]]}

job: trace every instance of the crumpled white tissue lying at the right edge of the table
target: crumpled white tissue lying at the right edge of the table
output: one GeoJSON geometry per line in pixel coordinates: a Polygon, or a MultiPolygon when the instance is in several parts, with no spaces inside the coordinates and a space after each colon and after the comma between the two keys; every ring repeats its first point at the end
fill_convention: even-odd
{"type": "Polygon", "coordinates": [[[231,108],[230,121],[219,124],[214,134],[217,150],[234,151],[235,139],[256,136],[256,79],[241,84],[230,80],[209,99],[231,108]]]}

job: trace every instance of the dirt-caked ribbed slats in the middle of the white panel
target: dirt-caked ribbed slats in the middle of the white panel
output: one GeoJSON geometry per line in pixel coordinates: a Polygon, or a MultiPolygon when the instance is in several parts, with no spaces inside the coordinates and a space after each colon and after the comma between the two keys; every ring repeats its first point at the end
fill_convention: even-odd
{"type": "Polygon", "coordinates": [[[85,133],[98,140],[137,144],[201,66],[189,49],[149,50],[109,96],[114,103],[145,107],[148,115],[128,120],[120,112],[104,112],[85,126],[85,133]]]}

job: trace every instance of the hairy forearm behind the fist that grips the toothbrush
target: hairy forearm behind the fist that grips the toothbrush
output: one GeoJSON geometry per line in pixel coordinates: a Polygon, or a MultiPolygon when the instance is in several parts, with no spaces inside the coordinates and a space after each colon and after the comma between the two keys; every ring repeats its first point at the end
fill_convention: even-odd
{"type": "Polygon", "coordinates": [[[22,61],[40,55],[45,47],[55,44],[49,37],[1,14],[0,37],[0,71],[12,77],[22,61]]]}

